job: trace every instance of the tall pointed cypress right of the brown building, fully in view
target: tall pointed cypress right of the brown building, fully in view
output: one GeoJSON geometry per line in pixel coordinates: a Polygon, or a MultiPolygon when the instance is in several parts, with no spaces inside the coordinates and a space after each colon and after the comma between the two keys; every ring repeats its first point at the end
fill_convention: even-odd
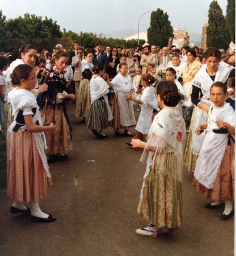
{"type": "Polygon", "coordinates": [[[230,35],[225,25],[225,17],[217,1],[210,3],[207,27],[207,47],[229,48],[230,35]]]}

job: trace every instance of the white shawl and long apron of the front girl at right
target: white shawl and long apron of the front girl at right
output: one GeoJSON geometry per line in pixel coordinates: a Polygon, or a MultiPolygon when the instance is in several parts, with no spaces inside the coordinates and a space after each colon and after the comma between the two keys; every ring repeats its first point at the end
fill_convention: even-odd
{"type": "Polygon", "coordinates": [[[216,120],[222,120],[231,126],[235,125],[235,112],[229,103],[225,103],[221,108],[216,108],[214,105],[210,106],[207,134],[196,162],[194,176],[197,181],[209,189],[214,186],[217,172],[225,154],[227,136],[229,135],[229,133],[216,134],[212,131],[213,129],[219,129],[216,120]]]}

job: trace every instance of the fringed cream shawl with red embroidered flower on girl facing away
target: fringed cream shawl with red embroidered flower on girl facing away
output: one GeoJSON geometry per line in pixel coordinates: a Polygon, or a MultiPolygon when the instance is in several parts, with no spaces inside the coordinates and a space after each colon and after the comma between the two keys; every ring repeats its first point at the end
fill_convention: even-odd
{"type": "Polygon", "coordinates": [[[147,137],[146,147],[140,159],[141,162],[147,163],[140,199],[142,199],[145,178],[153,168],[157,168],[157,174],[170,175],[173,179],[182,181],[185,142],[186,126],[178,106],[167,107],[155,115],[147,137]],[[150,146],[156,147],[156,150],[154,152],[149,151],[150,146]],[[167,166],[166,163],[173,157],[172,155],[177,159],[176,163],[167,166]]]}

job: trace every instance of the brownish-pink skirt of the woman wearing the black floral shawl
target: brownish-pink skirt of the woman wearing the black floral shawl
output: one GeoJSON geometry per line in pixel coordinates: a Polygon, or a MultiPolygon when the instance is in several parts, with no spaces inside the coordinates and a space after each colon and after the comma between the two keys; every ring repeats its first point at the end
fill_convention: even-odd
{"type": "Polygon", "coordinates": [[[55,108],[50,106],[49,108],[43,108],[40,110],[41,117],[44,125],[54,123],[56,126],[54,133],[50,131],[45,132],[47,141],[46,150],[48,155],[68,154],[72,150],[70,127],[66,120],[63,106],[56,104],[55,108]]]}

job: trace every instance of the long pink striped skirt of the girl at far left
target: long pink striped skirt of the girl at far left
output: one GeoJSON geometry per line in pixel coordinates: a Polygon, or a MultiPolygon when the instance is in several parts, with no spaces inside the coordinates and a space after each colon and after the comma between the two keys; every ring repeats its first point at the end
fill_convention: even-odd
{"type": "Polygon", "coordinates": [[[18,130],[12,132],[11,139],[11,160],[7,163],[7,195],[16,202],[45,199],[52,179],[46,176],[33,134],[18,130]]]}

